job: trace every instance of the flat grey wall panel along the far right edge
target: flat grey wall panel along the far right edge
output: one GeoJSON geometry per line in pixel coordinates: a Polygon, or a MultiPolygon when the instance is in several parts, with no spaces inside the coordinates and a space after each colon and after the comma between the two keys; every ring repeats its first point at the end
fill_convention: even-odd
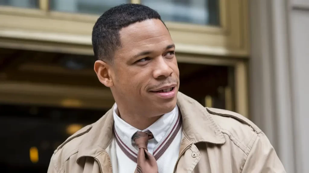
{"type": "Polygon", "coordinates": [[[297,172],[309,172],[309,0],[291,1],[291,79],[297,172]]]}

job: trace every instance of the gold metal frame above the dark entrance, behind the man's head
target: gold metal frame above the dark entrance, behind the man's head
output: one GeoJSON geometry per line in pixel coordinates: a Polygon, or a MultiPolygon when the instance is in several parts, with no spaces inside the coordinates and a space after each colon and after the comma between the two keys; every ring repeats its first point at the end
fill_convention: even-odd
{"type": "MultiPolygon", "coordinates": [[[[40,9],[0,6],[0,40],[91,45],[92,27],[99,16],[49,11],[47,2],[40,0],[40,9]]],[[[219,0],[219,8],[220,26],[166,22],[178,52],[248,57],[247,0],[219,0]]]]}

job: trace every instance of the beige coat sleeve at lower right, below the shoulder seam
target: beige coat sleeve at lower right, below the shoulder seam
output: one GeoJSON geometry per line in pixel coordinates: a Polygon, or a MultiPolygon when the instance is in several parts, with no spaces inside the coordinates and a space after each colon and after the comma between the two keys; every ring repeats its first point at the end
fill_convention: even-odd
{"type": "Polygon", "coordinates": [[[263,132],[258,134],[242,172],[286,173],[276,151],[263,132]]]}

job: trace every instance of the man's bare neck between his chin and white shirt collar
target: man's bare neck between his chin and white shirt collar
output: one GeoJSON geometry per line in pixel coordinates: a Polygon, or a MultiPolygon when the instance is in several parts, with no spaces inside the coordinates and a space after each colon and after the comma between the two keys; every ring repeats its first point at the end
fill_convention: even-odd
{"type": "Polygon", "coordinates": [[[129,125],[137,128],[138,130],[145,130],[163,116],[159,115],[153,117],[146,117],[142,114],[125,113],[120,111],[118,108],[116,109],[116,113],[122,120],[127,122],[129,125]]]}

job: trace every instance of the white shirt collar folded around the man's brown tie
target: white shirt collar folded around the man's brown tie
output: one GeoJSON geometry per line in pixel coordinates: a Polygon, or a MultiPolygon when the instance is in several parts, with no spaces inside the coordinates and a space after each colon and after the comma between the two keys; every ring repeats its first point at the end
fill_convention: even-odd
{"type": "Polygon", "coordinates": [[[176,117],[176,109],[177,106],[169,113],[164,114],[162,117],[159,118],[155,123],[150,125],[148,128],[144,130],[138,130],[137,128],[129,125],[127,122],[122,120],[117,115],[117,105],[115,104],[113,110],[113,117],[114,117],[114,125],[117,128],[117,131],[122,136],[122,138],[127,141],[128,143],[132,142],[132,136],[138,131],[146,131],[149,130],[153,135],[157,142],[159,142],[163,136],[167,133],[168,129],[170,128],[171,124],[173,123],[174,118],[176,117]]]}

